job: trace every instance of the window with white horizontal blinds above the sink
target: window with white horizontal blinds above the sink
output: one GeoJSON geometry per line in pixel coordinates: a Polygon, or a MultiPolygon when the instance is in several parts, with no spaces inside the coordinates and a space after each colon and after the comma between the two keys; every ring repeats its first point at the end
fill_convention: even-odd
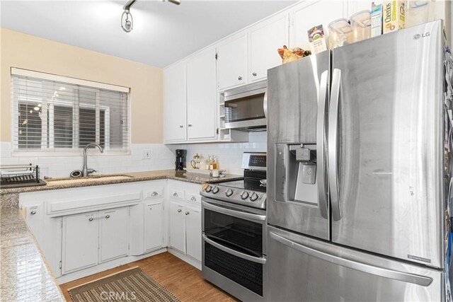
{"type": "Polygon", "coordinates": [[[12,69],[13,149],[129,150],[128,88],[12,69]],[[101,87],[100,87],[101,86],[101,87]]]}

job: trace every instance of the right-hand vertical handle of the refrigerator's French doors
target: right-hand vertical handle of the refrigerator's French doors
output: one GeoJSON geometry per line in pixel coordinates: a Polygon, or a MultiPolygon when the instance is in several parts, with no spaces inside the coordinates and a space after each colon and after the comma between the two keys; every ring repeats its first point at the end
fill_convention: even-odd
{"type": "Polygon", "coordinates": [[[341,91],[341,71],[333,69],[331,103],[328,108],[328,182],[330,185],[330,195],[332,202],[333,220],[341,219],[340,197],[338,196],[338,108],[340,103],[341,91]]]}

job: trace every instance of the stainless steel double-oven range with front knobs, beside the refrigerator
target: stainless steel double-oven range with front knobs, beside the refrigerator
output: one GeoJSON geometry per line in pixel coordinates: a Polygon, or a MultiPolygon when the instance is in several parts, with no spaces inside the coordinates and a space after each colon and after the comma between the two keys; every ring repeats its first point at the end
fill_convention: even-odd
{"type": "Polygon", "coordinates": [[[202,187],[202,275],[243,301],[263,300],[266,153],[243,153],[242,180],[202,187]]]}

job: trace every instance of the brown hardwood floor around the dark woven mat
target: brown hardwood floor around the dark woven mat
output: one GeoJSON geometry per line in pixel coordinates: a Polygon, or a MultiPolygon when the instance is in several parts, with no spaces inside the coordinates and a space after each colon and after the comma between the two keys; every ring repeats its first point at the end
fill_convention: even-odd
{"type": "Polygon", "coordinates": [[[237,301],[236,298],[203,279],[198,269],[169,252],[108,269],[105,272],[62,284],[60,287],[67,301],[71,301],[68,289],[130,267],[143,269],[144,272],[178,297],[180,301],[237,301]]]}

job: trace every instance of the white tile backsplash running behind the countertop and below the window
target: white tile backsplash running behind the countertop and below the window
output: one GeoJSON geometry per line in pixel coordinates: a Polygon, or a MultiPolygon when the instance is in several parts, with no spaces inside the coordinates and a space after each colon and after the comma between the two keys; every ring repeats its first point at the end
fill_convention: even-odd
{"type": "MultiPolygon", "coordinates": [[[[130,155],[106,156],[97,150],[89,151],[88,168],[97,170],[98,174],[125,173],[148,170],[166,170],[175,168],[175,150],[187,150],[186,164],[190,166],[190,160],[195,153],[203,159],[208,155],[214,155],[219,162],[219,168],[229,174],[243,173],[241,169],[242,153],[245,151],[266,151],[266,132],[254,132],[250,134],[248,143],[226,144],[132,144],[130,155]],[[150,159],[142,159],[143,151],[151,151],[150,159]]],[[[69,177],[72,170],[81,170],[83,157],[81,156],[40,156],[40,157],[16,157],[13,156],[11,142],[0,143],[0,163],[26,164],[33,163],[40,166],[40,176],[50,178],[69,177]]]]}

